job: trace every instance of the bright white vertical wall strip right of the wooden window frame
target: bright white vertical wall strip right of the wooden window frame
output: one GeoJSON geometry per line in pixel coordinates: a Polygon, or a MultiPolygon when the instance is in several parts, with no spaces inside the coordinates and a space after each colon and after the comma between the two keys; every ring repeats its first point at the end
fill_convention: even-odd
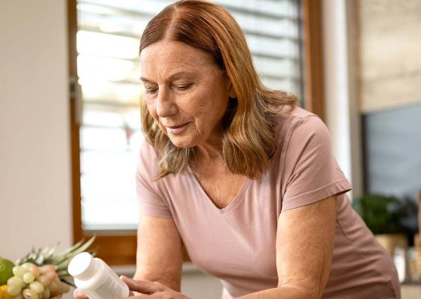
{"type": "Polygon", "coordinates": [[[322,18],[326,125],[333,153],[352,183],[351,197],[363,192],[354,5],[323,0],[322,18]]]}

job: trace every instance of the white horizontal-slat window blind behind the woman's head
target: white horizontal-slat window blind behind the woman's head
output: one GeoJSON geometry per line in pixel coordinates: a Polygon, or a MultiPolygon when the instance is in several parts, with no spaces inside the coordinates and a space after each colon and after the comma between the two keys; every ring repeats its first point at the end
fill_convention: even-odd
{"type": "MultiPolygon", "coordinates": [[[[301,93],[300,1],[218,0],[246,34],[269,88],[301,93]]],[[[82,87],[81,210],[84,230],[135,230],[140,132],[138,50],[147,22],[173,1],[78,0],[82,87]]]]}

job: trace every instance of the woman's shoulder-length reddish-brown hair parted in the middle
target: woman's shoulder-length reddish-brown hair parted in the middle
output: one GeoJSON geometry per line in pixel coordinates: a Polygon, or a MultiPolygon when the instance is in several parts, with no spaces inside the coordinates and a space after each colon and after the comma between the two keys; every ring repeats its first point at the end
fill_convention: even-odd
{"type": "MultiPolygon", "coordinates": [[[[206,1],[185,0],[166,6],[149,21],[140,39],[140,52],[163,39],[180,41],[213,55],[226,71],[236,98],[220,127],[222,158],[227,169],[258,179],[276,151],[275,125],[279,108],[295,105],[297,98],[265,88],[253,67],[246,38],[225,8],[206,1]]],[[[156,179],[185,172],[194,148],[178,148],[164,134],[141,101],[142,130],[159,159],[156,179]]]]}

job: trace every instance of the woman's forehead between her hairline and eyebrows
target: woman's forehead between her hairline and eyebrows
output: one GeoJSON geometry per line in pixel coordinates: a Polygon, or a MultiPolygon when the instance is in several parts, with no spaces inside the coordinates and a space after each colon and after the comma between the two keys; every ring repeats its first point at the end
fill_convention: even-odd
{"type": "Polygon", "coordinates": [[[140,53],[142,76],[164,76],[178,71],[218,69],[213,56],[179,41],[159,41],[140,53]]]}

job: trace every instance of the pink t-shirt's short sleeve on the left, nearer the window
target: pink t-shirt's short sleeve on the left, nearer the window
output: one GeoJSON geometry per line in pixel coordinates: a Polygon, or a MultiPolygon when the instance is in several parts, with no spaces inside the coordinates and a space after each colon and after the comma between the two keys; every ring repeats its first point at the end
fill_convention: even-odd
{"type": "Polygon", "coordinates": [[[138,168],[136,170],[136,193],[140,214],[159,218],[172,218],[168,203],[163,197],[162,179],[155,180],[158,162],[154,148],[145,144],[140,149],[138,168]]]}

